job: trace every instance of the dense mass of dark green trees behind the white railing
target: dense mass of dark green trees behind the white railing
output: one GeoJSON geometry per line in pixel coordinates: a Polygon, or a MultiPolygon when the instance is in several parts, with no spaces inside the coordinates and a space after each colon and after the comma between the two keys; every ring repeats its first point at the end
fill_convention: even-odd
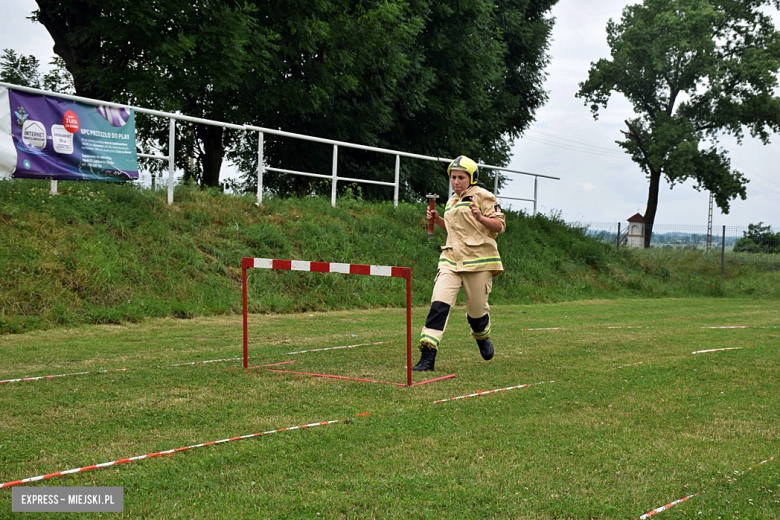
{"type": "MultiPolygon", "coordinates": [[[[502,163],[545,100],[546,13],[555,1],[37,0],[35,16],[85,96],[502,163]]],[[[165,126],[140,125],[142,142],[166,153],[165,126]]],[[[216,185],[227,154],[253,189],[256,134],[179,128],[177,147],[187,153],[177,160],[188,175],[216,185]]],[[[266,161],[329,173],[331,148],[266,137],[266,161]]],[[[389,180],[392,164],[339,152],[347,176],[389,180]]],[[[405,162],[404,196],[445,189],[430,170],[405,162]]],[[[290,175],[269,174],[266,186],[283,194],[329,190],[290,175]]]]}

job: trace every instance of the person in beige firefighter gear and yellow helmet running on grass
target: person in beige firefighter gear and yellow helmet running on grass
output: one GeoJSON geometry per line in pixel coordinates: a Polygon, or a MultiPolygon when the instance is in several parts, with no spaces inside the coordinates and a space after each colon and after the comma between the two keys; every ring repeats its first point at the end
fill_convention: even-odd
{"type": "Polygon", "coordinates": [[[485,360],[493,357],[490,341],[488,295],[493,277],[501,273],[501,257],[496,237],[506,230],[506,217],[489,191],[477,186],[477,163],[461,155],[447,168],[455,192],[444,208],[444,218],[428,209],[426,218],[447,231],[442,246],[439,272],[433,286],[431,310],[420,335],[420,362],[412,370],[433,370],[439,342],[447,327],[450,309],[461,286],[466,293],[466,318],[479,352],[485,360]]]}

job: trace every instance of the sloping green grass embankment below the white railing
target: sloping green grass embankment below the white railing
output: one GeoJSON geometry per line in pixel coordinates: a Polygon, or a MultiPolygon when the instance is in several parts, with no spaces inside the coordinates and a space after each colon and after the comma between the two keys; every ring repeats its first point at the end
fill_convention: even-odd
{"type": "MultiPolygon", "coordinates": [[[[424,204],[341,198],[266,199],[177,187],[0,182],[0,333],[145,317],[239,313],[245,256],[410,266],[425,305],[438,229],[424,204]]],[[[506,272],[491,303],[592,298],[777,297],[780,274],[717,253],[616,251],[555,217],[507,212],[499,237],[506,272]]],[[[251,312],[402,306],[402,282],[366,276],[253,270],[251,312]]]]}

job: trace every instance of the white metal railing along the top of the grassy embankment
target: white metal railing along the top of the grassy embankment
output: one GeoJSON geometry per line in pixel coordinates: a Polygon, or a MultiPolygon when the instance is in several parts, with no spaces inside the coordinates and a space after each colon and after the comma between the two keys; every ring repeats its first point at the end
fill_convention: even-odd
{"type": "MultiPolygon", "coordinates": [[[[322,137],[313,137],[309,135],[304,134],[296,134],[291,132],[284,132],[282,130],[273,130],[270,128],[263,128],[259,126],[253,126],[253,125],[235,125],[231,123],[224,123],[222,121],[215,121],[212,119],[203,119],[199,117],[190,117],[190,116],[184,116],[181,114],[173,114],[170,112],[161,112],[159,110],[150,110],[148,108],[139,108],[134,107],[131,105],[124,105],[121,103],[112,103],[109,101],[98,101],[90,98],[85,98],[81,96],[73,96],[70,94],[59,94],[57,92],[49,92],[45,90],[30,88],[30,87],[22,87],[19,85],[12,85],[9,83],[2,83],[0,82],[0,87],[6,87],[13,90],[19,90],[21,92],[28,92],[31,94],[39,94],[44,96],[54,96],[59,97],[63,99],[69,99],[71,101],[78,101],[80,103],[86,103],[89,105],[103,105],[103,106],[111,106],[116,108],[125,108],[128,110],[134,110],[136,113],[139,114],[147,114],[150,116],[155,117],[166,117],[169,119],[169,130],[168,130],[168,155],[153,155],[153,154],[144,154],[139,153],[138,157],[146,158],[146,159],[155,159],[155,160],[162,160],[162,161],[168,161],[168,204],[173,204],[173,189],[174,189],[174,157],[175,157],[175,148],[176,148],[176,121],[185,121],[189,123],[197,123],[197,124],[203,124],[203,125],[212,125],[212,126],[221,126],[223,128],[229,128],[232,130],[243,130],[248,132],[257,132],[258,133],[258,149],[257,149],[257,202],[260,204],[263,201],[263,174],[267,171],[269,172],[277,172],[277,173],[286,173],[288,175],[302,175],[305,177],[315,177],[320,179],[330,179],[332,182],[331,185],[331,205],[336,206],[336,193],[338,188],[338,182],[355,182],[355,183],[362,183],[362,184],[377,184],[381,186],[393,186],[394,187],[394,193],[393,193],[393,203],[397,207],[398,206],[398,191],[400,187],[400,171],[401,171],[401,157],[407,157],[410,159],[419,159],[419,160],[425,160],[425,161],[435,161],[435,162],[446,162],[450,163],[452,159],[444,158],[444,157],[433,157],[430,155],[421,155],[421,154],[415,154],[410,152],[402,152],[399,150],[390,150],[387,148],[379,148],[375,146],[365,146],[360,144],[354,144],[354,143],[348,143],[346,141],[335,141],[333,139],[325,139],[322,137]],[[265,165],[265,156],[263,153],[263,145],[264,145],[264,134],[271,134],[271,135],[277,135],[280,137],[290,137],[293,139],[301,139],[304,141],[310,141],[314,143],[322,143],[322,144],[330,144],[333,146],[333,166],[331,169],[330,175],[323,175],[319,173],[311,173],[311,172],[299,172],[295,170],[286,170],[283,168],[274,168],[271,166],[265,165]],[[339,177],[338,176],[338,148],[339,146],[344,148],[353,148],[356,150],[364,150],[369,152],[377,152],[377,153],[384,153],[388,155],[395,155],[395,180],[393,182],[384,182],[384,181],[375,181],[375,180],[369,180],[369,179],[354,179],[350,177],[339,177]]],[[[528,173],[528,172],[522,172],[518,170],[511,170],[508,168],[503,168],[501,166],[492,166],[489,164],[480,164],[480,168],[483,169],[489,169],[489,170],[495,170],[496,171],[496,177],[494,182],[494,189],[493,193],[496,195],[497,198],[501,199],[509,199],[509,200],[520,200],[520,201],[526,201],[526,202],[533,202],[533,214],[536,214],[536,205],[538,202],[538,181],[539,178],[543,179],[552,179],[552,180],[560,180],[559,177],[552,177],[549,175],[542,175],[538,173],[528,173]],[[532,176],[534,178],[534,198],[533,199],[522,199],[522,198],[514,198],[514,197],[505,197],[503,195],[498,194],[498,172],[503,173],[511,173],[515,175],[528,175],[532,176]]],[[[52,193],[56,193],[57,190],[57,181],[52,181],[52,193]]],[[[452,194],[452,187],[450,187],[449,194],[452,194]]]]}

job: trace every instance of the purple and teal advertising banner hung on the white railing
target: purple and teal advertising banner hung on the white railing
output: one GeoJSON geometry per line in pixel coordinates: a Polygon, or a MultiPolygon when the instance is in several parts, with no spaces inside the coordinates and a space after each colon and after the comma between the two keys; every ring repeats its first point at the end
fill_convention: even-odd
{"type": "Polygon", "coordinates": [[[0,177],[9,176],[137,179],[133,110],[0,87],[0,177]]]}

